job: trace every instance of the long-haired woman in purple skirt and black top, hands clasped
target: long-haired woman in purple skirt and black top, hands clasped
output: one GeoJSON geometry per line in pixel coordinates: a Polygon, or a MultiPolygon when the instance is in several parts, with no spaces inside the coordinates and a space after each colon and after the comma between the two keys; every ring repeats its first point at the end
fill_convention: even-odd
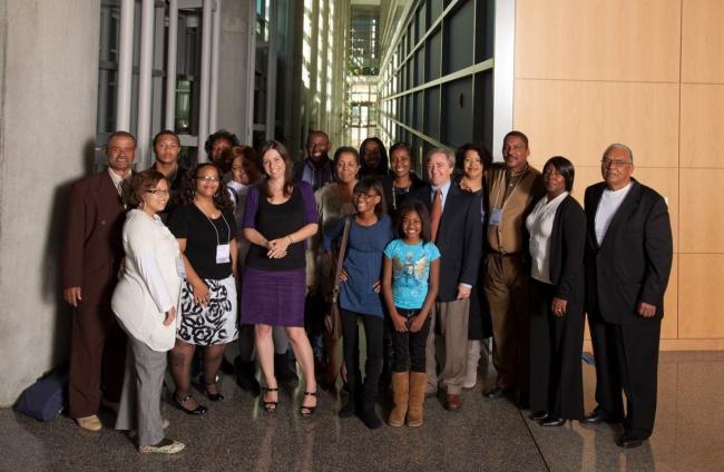
{"type": "Polygon", "coordinates": [[[268,412],[278,402],[272,327],[286,328],[306,382],[300,413],[309,416],[316,409],[316,381],[304,331],[304,240],[316,233],[316,205],[312,187],[293,181],[292,159],[282,144],[264,144],[262,165],[266,178],[248,190],[244,210],[244,236],[251,247],[242,286],[242,323],[255,325],[256,352],[266,380],[263,404],[268,412]]]}

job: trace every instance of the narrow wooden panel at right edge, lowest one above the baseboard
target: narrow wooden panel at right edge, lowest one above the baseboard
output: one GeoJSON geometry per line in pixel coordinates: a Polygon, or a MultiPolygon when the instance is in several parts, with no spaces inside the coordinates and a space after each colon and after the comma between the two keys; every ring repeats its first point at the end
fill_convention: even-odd
{"type": "Polygon", "coordinates": [[[724,337],[724,254],[679,254],[679,337],[724,337]]]}

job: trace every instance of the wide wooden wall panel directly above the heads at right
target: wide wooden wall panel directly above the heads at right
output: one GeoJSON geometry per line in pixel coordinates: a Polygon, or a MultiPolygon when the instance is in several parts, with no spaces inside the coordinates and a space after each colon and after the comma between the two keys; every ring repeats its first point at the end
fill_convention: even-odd
{"type": "MultiPolygon", "coordinates": [[[[678,166],[678,83],[517,79],[513,120],[531,153],[597,166],[624,142],[639,167],[678,166]]],[[[545,160],[545,159],[544,159],[545,160]]]]}

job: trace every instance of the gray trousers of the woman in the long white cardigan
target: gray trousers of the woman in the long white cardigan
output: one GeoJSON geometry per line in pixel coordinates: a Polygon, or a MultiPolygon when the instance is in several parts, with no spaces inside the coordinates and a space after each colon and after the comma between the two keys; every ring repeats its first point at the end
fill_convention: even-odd
{"type": "Polygon", "coordinates": [[[128,336],[126,375],[116,430],[138,430],[138,445],[158,444],[164,439],[160,394],[166,355],[166,352],[156,352],[128,336]]]}

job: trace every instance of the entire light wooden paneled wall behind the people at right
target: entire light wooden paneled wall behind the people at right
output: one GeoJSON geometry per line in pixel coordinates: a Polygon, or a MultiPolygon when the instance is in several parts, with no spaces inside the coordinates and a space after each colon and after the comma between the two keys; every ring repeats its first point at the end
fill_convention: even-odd
{"type": "Polygon", "coordinates": [[[531,163],[600,180],[610,142],[668,199],[664,350],[724,350],[724,1],[517,0],[513,122],[531,163]]]}

